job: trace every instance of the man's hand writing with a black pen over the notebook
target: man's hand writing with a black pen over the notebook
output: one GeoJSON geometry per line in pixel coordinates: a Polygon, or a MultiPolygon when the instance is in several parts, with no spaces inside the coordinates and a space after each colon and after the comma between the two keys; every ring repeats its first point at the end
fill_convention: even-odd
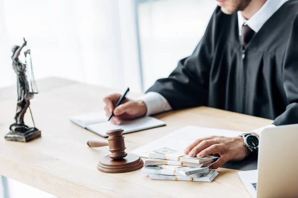
{"type": "Polygon", "coordinates": [[[131,120],[146,115],[147,106],[142,100],[125,99],[122,104],[115,108],[116,103],[120,99],[120,94],[112,94],[105,97],[103,101],[106,106],[106,116],[109,117],[114,111],[114,116],[111,118],[113,124],[121,124],[122,120],[131,120]]]}

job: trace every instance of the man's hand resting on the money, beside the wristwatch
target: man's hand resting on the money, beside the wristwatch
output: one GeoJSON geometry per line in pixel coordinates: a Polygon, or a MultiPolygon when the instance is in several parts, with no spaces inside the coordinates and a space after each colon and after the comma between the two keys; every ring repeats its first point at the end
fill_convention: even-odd
{"type": "Polygon", "coordinates": [[[242,137],[228,138],[224,136],[211,136],[196,140],[184,150],[184,153],[190,157],[220,155],[220,158],[210,166],[210,169],[217,169],[230,160],[240,161],[249,155],[242,137]]]}

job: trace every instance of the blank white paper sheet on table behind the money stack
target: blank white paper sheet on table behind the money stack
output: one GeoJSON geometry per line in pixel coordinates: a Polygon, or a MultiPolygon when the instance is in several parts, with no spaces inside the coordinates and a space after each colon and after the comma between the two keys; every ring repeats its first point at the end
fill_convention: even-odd
{"type": "Polygon", "coordinates": [[[230,131],[223,129],[203,128],[197,126],[185,126],[171,134],[168,134],[156,141],[153,141],[143,147],[137,148],[132,153],[138,154],[141,157],[149,156],[151,150],[160,148],[170,148],[173,150],[183,150],[195,140],[208,136],[226,136],[235,137],[243,132],[230,131]]]}

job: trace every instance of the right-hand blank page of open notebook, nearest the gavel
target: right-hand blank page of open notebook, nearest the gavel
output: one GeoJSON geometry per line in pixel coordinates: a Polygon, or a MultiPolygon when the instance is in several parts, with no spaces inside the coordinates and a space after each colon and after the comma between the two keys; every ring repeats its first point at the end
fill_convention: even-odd
{"type": "Polygon", "coordinates": [[[106,132],[109,130],[123,129],[124,130],[123,134],[126,134],[126,133],[132,133],[136,131],[151,129],[155,127],[160,127],[164,125],[165,123],[162,122],[161,120],[147,116],[147,117],[142,117],[135,120],[123,121],[121,125],[114,125],[111,122],[91,124],[87,126],[87,129],[102,137],[108,137],[106,135],[106,132]]]}

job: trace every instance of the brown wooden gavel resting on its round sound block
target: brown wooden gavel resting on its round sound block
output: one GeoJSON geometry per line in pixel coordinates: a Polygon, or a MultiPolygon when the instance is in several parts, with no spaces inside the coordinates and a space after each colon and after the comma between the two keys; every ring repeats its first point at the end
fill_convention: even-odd
{"type": "Polygon", "coordinates": [[[89,147],[109,146],[110,155],[100,159],[97,169],[105,173],[125,173],[142,168],[143,160],[136,154],[125,152],[123,130],[117,129],[108,131],[108,141],[92,140],[88,141],[89,147]]]}

